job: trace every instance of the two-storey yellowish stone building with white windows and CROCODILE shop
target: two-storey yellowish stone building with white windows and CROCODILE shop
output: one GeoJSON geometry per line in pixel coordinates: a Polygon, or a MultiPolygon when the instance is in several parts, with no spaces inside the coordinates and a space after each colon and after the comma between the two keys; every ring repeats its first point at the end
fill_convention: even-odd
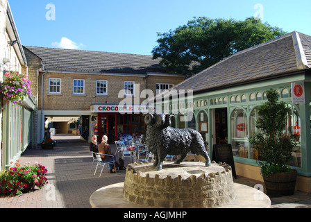
{"type": "MultiPolygon", "coordinates": [[[[46,117],[80,117],[80,135],[144,134],[139,111],[145,89],[155,95],[182,82],[162,72],[152,56],[24,46],[28,76],[37,92],[37,143],[44,138],[46,117]],[[126,113],[119,106],[124,99],[126,113]]],[[[56,129],[57,130],[57,129],[56,129]]]]}

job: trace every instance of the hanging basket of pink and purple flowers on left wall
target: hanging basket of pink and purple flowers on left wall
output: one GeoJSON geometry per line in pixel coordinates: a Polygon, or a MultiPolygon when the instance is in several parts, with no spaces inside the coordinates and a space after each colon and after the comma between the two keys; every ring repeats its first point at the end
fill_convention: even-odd
{"type": "Polygon", "coordinates": [[[18,74],[14,71],[8,71],[5,74],[6,78],[1,83],[0,93],[3,102],[6,104],[12,103],[22,103],[24,99],[31,96],[31,81],[28,80],[26,74],[18,74]]]}

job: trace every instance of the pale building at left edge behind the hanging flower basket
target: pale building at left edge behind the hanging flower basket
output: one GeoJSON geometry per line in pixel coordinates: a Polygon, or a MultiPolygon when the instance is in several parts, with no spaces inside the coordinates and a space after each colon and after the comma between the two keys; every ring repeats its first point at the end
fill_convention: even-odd
{"type": "MultiPolygon", "coordinates": [[[[27,73],[27,61],[7,0],[0,0],[0,82],[6,72],[27,73]]],[[[2,97],[1,97],[2,100],[2,97]]],[[[35,97],[21,104],[0,103],[0,170],[10,167],[34,141],[32,117],[35,97]],[[1,106],[2,104],[2,106],[1,106]]],[[[35,142],[36,143],[36,142],[35,142]]]]}

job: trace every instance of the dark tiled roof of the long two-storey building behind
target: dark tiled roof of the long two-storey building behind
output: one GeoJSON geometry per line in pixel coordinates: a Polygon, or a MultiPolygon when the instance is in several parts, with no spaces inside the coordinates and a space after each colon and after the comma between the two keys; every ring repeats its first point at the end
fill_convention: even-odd
{"type": "Polygon", "coordinates": [[[45,71],[94,74],[161,73],[160,59],[152,56],[24,46],[42,59],[45,71]]]}

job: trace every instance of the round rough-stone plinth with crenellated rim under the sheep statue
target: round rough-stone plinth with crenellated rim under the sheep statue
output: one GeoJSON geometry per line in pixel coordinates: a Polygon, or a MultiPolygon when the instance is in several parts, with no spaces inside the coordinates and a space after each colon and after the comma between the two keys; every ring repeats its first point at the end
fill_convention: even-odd
{"type": "Polygon", "coordinates": [[[235,199],[231,167],[204,162],[165,162],[162,171],[153,164],[129,164],[123,196],[145,207],[212,208],[235,199]]]}

